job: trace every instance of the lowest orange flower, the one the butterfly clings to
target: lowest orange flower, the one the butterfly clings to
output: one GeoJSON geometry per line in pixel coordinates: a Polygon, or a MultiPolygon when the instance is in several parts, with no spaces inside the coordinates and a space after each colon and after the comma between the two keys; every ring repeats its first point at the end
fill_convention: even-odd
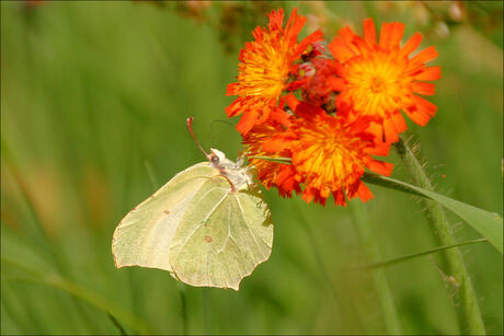
{"type": "Polygon", "coordinates": [[[331,194],[336,205],[346,205],[345,195],[348,199],[370,199],[373,194],[360,181],[365,169],[383,175],[392,171],[392,164],[371,157],[387,155],[390,144],[375,141],[375,136],[366,131],[370,118],[330,116],[305,102],[298,102],[295,113],[297,118],[291,118],[287,130],[275,135],[271,129],[245,141],[248,154],[291,158],[289,170],[280,170],[282,164],[273,162],[252,161],[257,177],[266,186],[276,186],[284,196],[290,196],[293,189],[299,192],[302,184],[302,199],[307,202],[324,205],[331,194]]]}

